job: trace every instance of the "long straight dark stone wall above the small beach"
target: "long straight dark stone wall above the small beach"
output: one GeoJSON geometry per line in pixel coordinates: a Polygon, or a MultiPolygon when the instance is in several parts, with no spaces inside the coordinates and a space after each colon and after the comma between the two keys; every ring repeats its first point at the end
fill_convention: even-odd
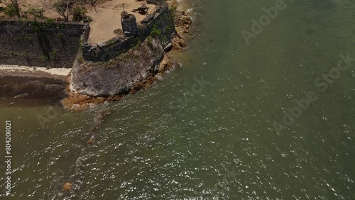
{"type": "Polygon", "coordinates": [[[88,34],[84,23],[0,21],[0,65],[70,68],[88,34]]]}

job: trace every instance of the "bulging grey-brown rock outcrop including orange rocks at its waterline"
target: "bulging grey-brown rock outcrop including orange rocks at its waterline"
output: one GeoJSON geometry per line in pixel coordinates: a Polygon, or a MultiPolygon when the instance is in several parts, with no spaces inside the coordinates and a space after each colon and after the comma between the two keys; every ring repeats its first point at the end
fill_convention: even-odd
{"type": "Polygon", "coordinates": [[[68,97],[62,99],[67,109],[81,111],[103,104],[119,101],[126,94],[150,87],[158,74],[180,67],[163,51],[158,38],[148,38],[124,55],[110,62],[76,63],[67,78],[68,97]]]}

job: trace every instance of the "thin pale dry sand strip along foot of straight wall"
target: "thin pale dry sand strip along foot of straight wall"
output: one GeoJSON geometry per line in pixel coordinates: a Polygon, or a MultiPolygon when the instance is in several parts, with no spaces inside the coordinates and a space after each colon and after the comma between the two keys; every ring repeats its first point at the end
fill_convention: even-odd
{"type": "Polygon", "coordinates": [[[71,68],[52,68],[48,69],[45,67],[26,67],[26,66],[18,66],[18,65],[0,65],[0,73],[2,70],[5,70],[7,72],[11,72],[11,70],[23,70],[26,72],[47,72],[52,75],[59,75],[59,76],[65,76],[69,74],[71,68]]]}

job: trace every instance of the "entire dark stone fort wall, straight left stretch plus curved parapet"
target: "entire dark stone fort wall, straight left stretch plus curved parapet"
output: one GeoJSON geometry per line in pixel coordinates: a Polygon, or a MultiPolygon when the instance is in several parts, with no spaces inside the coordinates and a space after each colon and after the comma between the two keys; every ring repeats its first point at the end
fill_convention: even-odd
{"type": "Polygon", "coordinates": [[[138,35],[119,35],[101,44],[87,43],[87,23],[0,21],[0,65],[70,68],[81,56],[87,61],[108,62],[149,35],[158,37],[166,47],[175,33],[168,5],[157,6],[145,21],[138,25],[138,35]]]}

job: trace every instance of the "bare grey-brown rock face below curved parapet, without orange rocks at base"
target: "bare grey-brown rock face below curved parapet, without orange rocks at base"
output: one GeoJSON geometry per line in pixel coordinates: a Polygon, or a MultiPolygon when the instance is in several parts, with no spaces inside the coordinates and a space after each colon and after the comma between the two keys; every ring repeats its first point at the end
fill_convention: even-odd
{"type": "Polygon", "coordinates": [[[164,55],[160,40],[149,37],[109,62],[79,58],[72,68],[70,90],[89,96],[127,94],[137,82],[158,73],[164,55]]]}

